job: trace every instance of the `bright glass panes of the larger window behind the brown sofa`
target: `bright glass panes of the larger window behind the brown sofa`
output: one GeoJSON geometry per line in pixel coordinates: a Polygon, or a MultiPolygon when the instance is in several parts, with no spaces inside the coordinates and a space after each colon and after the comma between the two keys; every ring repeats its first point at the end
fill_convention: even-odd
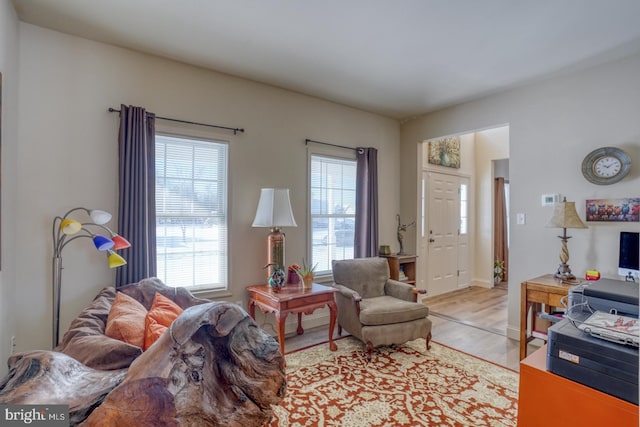
{"type": "Polygon", "coordinates": [[[157,275],[227,288],[227,144],[156,135],[157,275]]]}

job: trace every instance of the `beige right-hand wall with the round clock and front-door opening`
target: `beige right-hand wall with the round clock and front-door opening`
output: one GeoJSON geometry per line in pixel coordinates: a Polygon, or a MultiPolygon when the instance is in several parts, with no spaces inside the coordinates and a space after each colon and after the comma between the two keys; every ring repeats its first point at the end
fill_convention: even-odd
{"type": "MultiPolygon", "coordinates": [[[[416,156],[425,139],[509,125],[511,187],[511,250],[509,335],[519,329],[520,283],[558,265],[558,230],[546,228],[551,210],[542,194],[560,193],[583,206],[587,198],[639,196],[640,168],[618,184],[596,186],[581,173],[584,156],[605,145],[624,148],[640,162],[640,55],[604,64],[473,102],[433,112],[404,123],[401,158],[416,156]],[[515,225],[515,215],[526,224],[515,225]]],[[[417,171],[402,170],[402,212],[415,217],[417,171]]],[[[584,210],[581,210],[584,218],[584,210]]],[[[594,224],[569,234],[571,268],[583,275],[598,268],[617,276],[618,232],[637,224],[594,224]]],[[[407,239],[408,244],[409,239],[407,239]]],[[[413,244],[415,244],[415,239],[413,244]]],[[[409,249],[412,249],[409,246],[409,249]]]]}

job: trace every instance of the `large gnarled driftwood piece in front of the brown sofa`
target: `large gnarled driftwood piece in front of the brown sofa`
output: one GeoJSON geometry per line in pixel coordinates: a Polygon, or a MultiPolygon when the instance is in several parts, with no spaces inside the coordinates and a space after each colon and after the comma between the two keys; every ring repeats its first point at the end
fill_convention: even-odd
{"type": "Polygon", "coordinates": [[[286,389],[277,341],[235,304],[187,308],[128,369],[56,351],[9,360],[0,403],[68,404],[71,425],[261,426],[286,389]]]}

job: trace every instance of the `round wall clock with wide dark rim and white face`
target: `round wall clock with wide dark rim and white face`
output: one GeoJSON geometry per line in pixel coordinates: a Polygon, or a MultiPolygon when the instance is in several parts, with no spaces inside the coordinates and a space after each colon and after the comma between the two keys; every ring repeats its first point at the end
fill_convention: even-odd
{"type": "Polygon", "coordinates": [[[597,148],[582,161],[582,174],[587,181],[598,185],[614,184],[630,170],[631,158],[616,147],[597,148]]]}

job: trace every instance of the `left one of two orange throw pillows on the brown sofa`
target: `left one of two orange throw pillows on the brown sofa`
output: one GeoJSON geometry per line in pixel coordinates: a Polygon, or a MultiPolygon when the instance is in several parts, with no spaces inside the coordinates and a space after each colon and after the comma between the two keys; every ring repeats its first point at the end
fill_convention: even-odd
{"type": "Polygon", "coordinates": [[[146,315],[147,309],[142,304],[127,294],[117,292],[111,309],[109,309],[104,334],[142,347],[144,345],[146,315]]]}

